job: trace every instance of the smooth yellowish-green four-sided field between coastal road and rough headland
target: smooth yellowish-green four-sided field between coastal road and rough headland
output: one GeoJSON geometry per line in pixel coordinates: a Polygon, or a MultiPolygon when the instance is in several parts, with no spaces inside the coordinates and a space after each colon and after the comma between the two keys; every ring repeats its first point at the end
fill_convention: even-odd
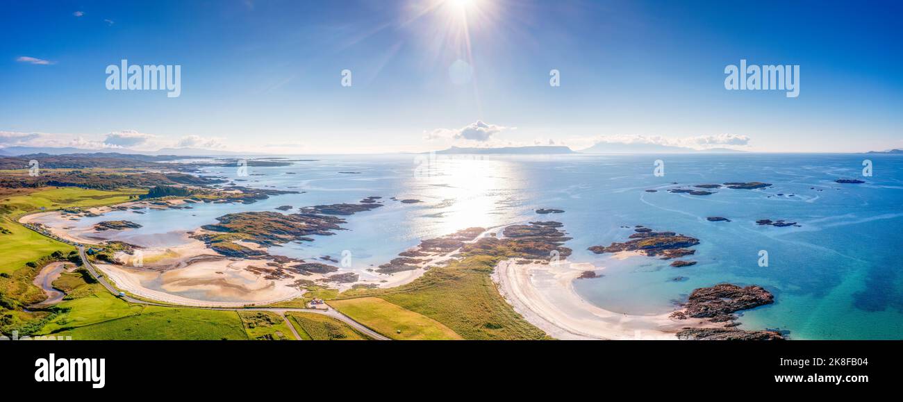
{"type": "Polygon", "coordinates": [[[394,340],[460,340],[460,335],[432,318],[378,297],[327,302],[332,308],[394,340]]]}

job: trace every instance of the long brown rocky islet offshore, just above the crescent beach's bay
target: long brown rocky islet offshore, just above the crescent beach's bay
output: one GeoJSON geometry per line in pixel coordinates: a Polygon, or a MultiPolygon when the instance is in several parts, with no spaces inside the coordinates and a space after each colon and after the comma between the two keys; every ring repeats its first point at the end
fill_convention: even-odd
{"type": "Polygon", "coordinates": [[[611,243],[608,247],[592,246],[589,250],[596,254],[639,251],[650,257],[669,259],[692,255],[695,250],[688,248],[699,244],[698,238],[680,235],[673,231],[656,232],[648,228],[634,230],[636,233],[629,236],[631,240],[623,243],[611,243]]]}

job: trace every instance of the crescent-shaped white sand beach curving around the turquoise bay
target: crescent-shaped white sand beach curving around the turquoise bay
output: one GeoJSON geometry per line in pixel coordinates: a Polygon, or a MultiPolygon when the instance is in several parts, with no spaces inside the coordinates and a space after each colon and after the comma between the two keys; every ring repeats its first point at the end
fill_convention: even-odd
{"type": "MultiPolygon", "coordinates": [[[[630,256],[619,256],[621,258],[630,256]]],[[[703,320],[676,321],[670,313],[631,315],[591,304],[573,289],[584,271],[604,267],[586,263],[498,263],[492,274],[498,292],[524,319],[559,340],[677,340],[684,327],[713,327],[703,320]]]]}

